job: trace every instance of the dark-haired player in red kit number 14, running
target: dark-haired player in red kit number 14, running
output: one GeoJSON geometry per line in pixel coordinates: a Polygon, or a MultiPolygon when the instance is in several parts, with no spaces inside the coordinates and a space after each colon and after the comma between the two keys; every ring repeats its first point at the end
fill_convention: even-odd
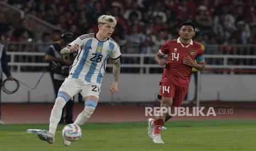
{"type": "Polygon", "coordinates": [[[167,40],[156,54],[156,62],[165,66],[160,82],[161,107],[160,116],[148,120],[148,135],[154,143],[164,143],[161,139],[161,127],[168,113],[161,111],[162,107],[179,107],[187,94],[192,67],[202,71],[205,68],[203,49],[195,43],[195,25],[193,22],[182,22],[179,38],[167,40]],[[167,55],[167,60],[164,56],[167,55]],[[197,63],[194,62],[197,60],[197,63]],[[162,112],[162,113],[161,113],[162,112]]]}

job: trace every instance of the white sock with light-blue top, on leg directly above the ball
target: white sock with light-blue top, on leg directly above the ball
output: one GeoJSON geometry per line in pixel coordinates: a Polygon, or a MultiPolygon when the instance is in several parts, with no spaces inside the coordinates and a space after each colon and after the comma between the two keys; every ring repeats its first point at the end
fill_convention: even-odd
{"type": "Polygon", "coordinates": [[[83,125],[85,121],[87,121],[91,114],[94,113],[94,110],[97,106],[97,102],[94,100],[85,101],[84,110],[78,115],[77,119],[75,119],[74,124],[83,125]]]}

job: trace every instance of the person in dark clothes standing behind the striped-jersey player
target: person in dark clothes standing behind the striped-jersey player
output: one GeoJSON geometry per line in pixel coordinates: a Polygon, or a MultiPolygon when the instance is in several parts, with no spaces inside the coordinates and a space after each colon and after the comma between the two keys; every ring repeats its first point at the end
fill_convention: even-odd
{"type": "MultiPolygon", "coordinates": [[[[55,96],[57,97],[58,90],[64,82],[65,78],[68,77],[69,67],[72,65],[72,60],[74,59],[75,54],[66,54],[61,55],[59,52],[62,48],[66,47],[67,44],[73,41],[73,33],[71,32],[62,32],[59,40],[54,42],[48,48],[48,51],[45,56],[45,60],[50,62],[50,73],[53,80],[53,87],[55,90],[55,96]]],[[[66,104],[66,117],[63,118],[64,108],[62,111],[62,117],[59,121],[59,124],[70,124],[73,123],[73,106],[74,101],[69,100],[66,104]],[[65,121],[64,121],[65,120],[65,121]]]]}

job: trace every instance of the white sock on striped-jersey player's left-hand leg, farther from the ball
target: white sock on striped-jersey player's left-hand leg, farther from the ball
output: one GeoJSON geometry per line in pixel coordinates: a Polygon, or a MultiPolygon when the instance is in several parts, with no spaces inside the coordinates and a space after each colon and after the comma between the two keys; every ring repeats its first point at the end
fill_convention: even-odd
{"type": "Polygon", "coordinates": [[[57,125],[59,120],[61,120],[62,108],[65,106],[66,101],[63,97],[57,97],[55,104],[52,108],[51,117],[50,117],[50,126],[49,132],[55,135],[57,125]]]}

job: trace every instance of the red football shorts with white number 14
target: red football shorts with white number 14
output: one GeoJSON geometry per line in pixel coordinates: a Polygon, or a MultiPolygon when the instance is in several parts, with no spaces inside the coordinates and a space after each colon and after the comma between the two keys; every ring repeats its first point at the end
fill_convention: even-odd
{"type": "Polygon", "coordinates": [[[164,97],[172,97],[173,102],[172,106],[179,107],[182,104],[182,101],[184,100],[188,88],[184,88],[181,86],[176,86],[170,82],[162,82],[160,94],[164,97]]]}

